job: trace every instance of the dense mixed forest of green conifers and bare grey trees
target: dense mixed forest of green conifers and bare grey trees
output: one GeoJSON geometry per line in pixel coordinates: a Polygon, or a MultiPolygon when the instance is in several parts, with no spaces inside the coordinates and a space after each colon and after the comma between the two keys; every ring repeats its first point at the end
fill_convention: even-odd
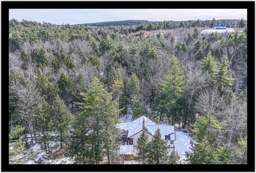
{"type": "Polygon", "coordinates": [[[247,164],[247,21],[9,20],[9,155],[30,134],[46,153],[56,140],[77,163],[115,163],[128,109],[189,129],[190,164],[247,164]],[[201,34],[215,23],[236,30],[201,34]]]}

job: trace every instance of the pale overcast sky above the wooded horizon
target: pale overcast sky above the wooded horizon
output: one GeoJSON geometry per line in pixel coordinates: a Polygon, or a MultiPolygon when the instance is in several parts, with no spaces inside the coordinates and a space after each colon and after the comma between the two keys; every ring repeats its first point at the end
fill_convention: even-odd
{"type": "Polygon", "coordinates": [[[52,24],[84,24],[115,20],[186,21],[241,19],[247,9],[9,9],[9,19],[52,24]]]}

